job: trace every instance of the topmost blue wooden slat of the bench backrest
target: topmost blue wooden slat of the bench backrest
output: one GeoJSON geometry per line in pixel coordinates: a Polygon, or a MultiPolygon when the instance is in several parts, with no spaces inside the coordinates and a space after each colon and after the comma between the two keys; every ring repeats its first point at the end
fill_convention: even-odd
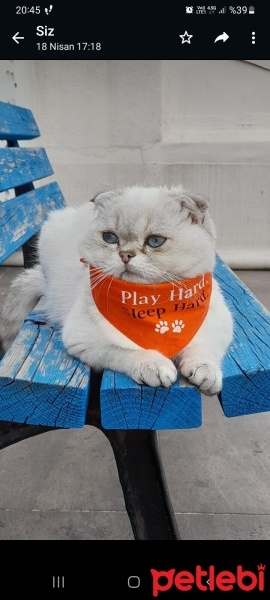
{"type": "Polygon", "coordinates": [[[0,102],[0,140],[30,140],[39,136],[31,110],[0,102]]]}

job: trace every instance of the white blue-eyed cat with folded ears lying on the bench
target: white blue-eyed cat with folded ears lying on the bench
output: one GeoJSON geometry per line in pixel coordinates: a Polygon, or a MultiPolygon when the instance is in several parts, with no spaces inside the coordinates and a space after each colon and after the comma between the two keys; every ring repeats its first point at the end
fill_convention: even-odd
{"type": "MultiPolygon", "coordinates": [[[[185,326],[182,308],[195,304],[190,296],[200,291],[204,274],[211,278],[215,237],[207,201],[181,186],[129,187],[99,194],[78,208],[52,212],[40,233],[39,265],[17,277],[7,296],[1,329],[4,347],[42,297],[48,321],[62,328],[66,350],[90,367],[121,371],[138,383],[166,387],[176,381],[180,369],[201,392],[218,393],[222,387],[221,363],[232,340],[233,322],[214,278],[202,324],[187,346],[171,358],[162,353],[162,340],[165,343],[170,324],[162,309],[156,309],[160,294],[138,296],[130,292],[131,284],[136,290],[137,283],[167,282],[180,298],[181,281],[200,276],[192,288],[187,289],[184,282],[181,301],[176,292],[172,295],[177,312],[171,328],[180,339],[185,326]],[[103,282],[109,282],[109,294],[111,283],[118,280],[123,283],[122,304],[128,299],[133,307],[122,306],[121,310],[129,315],[130,323],[132,318],[137,319],[137,331],[146,315],[151,317],[160,341],[159,351],[130,339],[97,307],[93,299],[95,285],[102,288],[103,282]]],[[[147,337],[145,334],[144,339],[147,337]]]]}

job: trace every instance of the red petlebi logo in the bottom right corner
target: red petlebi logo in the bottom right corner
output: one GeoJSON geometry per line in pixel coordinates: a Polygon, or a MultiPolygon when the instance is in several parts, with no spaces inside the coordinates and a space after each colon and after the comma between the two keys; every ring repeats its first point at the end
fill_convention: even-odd
{"type": "Polygon", "coordinates": [[[152,596],[157,598],[161,593],[175,590],[179,592],[190,592],[199,590],[201,592],[230,592],[237,589],[242,592],[256,590],[263,592],[265,589],[265,569],[262,563],[255,567],[254,571],[237,565],[233,571],[224,569],[218,571],[214,565],[203,568],[196,565],[193,571],[183,569],[176,571],[157,571],[150,569],[152,576],[152,596]]]}

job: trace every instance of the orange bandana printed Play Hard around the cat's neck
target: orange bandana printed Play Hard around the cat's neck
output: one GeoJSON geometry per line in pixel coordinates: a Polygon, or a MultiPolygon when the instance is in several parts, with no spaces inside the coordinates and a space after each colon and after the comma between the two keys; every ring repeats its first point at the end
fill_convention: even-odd
{"type": "Polygon", "coordinates": [[[201,327],[209,308],[212,275],[171,283],[143,284],[107,276],[89,267],[99,312],[130,340],[172,358],[201,327]],[[94,283],[98,281],[98,283],[94,283]]]}

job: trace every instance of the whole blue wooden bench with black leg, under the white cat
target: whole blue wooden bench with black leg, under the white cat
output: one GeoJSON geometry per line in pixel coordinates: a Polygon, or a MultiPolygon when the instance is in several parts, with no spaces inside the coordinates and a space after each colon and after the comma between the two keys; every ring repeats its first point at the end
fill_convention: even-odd
{"type": "MultiPolygon", "coordinates": [[[[31,111],[0,102],[0,140],[6,142],[0,148],[0,192],[12,190],[12,198],[0,200],[0,263],[22,248],[24,265],[31,267],[42,222],[65,205],[57,183],[34,187],[53,170],[44,149],[20,147],[19,141],[39,135],[31,111]]],[[[268,411],[269,313],[218,257],[215,276],[235,321],[219,398],[224,414],[268,411]]],[[[91,373],[67,355],[60,332],[37,307],[0,360],[0,420],[0,448],[50,429],[98,427],[114,451],[135,539],[180,539],[156,430],[201,425],[200,394],[184,380],[154,389],[121,373],[91,373]]]]}

